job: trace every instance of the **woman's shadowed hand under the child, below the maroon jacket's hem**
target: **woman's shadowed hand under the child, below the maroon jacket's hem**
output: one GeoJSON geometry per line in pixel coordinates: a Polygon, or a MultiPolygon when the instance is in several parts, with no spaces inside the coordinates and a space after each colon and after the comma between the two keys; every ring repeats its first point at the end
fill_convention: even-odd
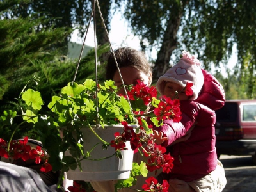
{"type": "Polygon", "coordinates": [[[183,180],[170,179],[168,192],[195,192],[189,184],[183,180]]]}

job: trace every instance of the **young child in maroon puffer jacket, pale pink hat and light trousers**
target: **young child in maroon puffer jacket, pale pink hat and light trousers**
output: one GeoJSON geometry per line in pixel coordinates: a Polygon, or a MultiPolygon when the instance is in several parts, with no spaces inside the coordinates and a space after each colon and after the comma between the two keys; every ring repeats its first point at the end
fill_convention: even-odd
{"type": "Polygon", "coordinates": [[[163,126],[155,128],[156,139],[166,146],[175,159],[172,172],[161,173],[158,179],[184,180],[195,191],[222,191],[227,181],[215,148],[214,110],[220,108],[220,100],[216,99],[214,94],[224,95],[223,102],[225,94],[221,84],[217,87],[214,84],[211,88],[217,90],[208,89],[207,94],[196,101],[204,85],[204,74],[200,65],[195,56],[183,51],[180,61],[157,81],[157,89],[161,95],[171,99],[179,97],[182,111],[181,126],[172,120],[165,120],[163,126]],[[193,85],[191,95],[186,95],[187,84],[193,85]],[[184,136],[193,124],[195,126],[188,140],[171,146],[173,141],[184,136]]]}

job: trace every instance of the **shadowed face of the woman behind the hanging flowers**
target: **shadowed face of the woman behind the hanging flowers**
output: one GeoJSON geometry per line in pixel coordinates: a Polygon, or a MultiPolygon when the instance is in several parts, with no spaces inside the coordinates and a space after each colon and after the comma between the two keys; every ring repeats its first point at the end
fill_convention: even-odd
{"type": "MultiPolygon", "coordinates": [[[[151,72],[149,74],[145,74],[144,72],[141,72],[140,70],[131,66],[121,67],[120,72],[122,74],[122,78],[125,85],[138,84],[137,80],[142,81],[147,86],[151,85],[151,81],[152,81],[151,72]]],[[[118,73],[118,70],[116,70],[114,74],[113,81],[115,81],[115,85],[118,86],[118,88],[120,88],[123,85],[121,81],[121,77],[118,73]]],[[[118,91],[118,94],[125,95],[124,88],[120,89],[118,91]]]]}

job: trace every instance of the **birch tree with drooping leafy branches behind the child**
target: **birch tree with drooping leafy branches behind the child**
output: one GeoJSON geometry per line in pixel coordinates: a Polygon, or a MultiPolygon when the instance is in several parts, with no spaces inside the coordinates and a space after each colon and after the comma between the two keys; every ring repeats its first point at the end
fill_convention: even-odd
{"type": "MultiPolygon", "coordinates": [[[[116,0],[122,6],[122,0],[116,0]]],[[[235,74],[248,72],[249,95],[255,89],[256,1],[246,0],[127,0],[124,16],[145,49],[159,44],[154,78],[170,68],[170,58],[186,49],[204,63],[227,64],[237,45],[235,74]],[[145,42],[147,40],[147,42],[145,42]]],[[[172,63],[175,63],[173,61],[172,63]]]]}

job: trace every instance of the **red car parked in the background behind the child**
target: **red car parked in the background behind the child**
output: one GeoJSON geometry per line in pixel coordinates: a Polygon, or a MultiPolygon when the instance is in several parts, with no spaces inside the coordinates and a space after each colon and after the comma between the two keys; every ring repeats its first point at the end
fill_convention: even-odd
{"type": "Polygon", "coordinates": [[[216,111],[218,157],[252,155],[256,149],[256,100],[226,100],[216,111]]]}

